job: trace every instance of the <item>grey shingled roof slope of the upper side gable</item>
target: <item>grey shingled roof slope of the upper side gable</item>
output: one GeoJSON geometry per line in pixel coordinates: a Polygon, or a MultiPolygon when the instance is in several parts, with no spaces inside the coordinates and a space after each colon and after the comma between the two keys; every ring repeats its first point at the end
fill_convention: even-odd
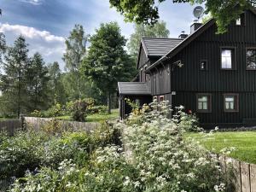
{"type": "Polygon", "coordinates": [[[142,38],[148,56],[163,56],[182,41],[182,38],[142,38]]]}

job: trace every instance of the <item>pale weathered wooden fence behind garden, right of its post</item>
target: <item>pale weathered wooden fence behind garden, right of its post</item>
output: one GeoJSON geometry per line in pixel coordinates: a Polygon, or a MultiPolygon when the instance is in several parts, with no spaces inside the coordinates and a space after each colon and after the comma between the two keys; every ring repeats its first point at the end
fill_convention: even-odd
{"type": "MultiPolygon", "coordinates": [[[[35,117],[24,117],[24,124],[26,126],[31,126],[33,129],[40,129],[42,126],[49,123],[51,118],[35,118],[35,117]]],[[[100,124],[96,122],[77,122],[77,121],[66,121],[66,120],[57,120],[61,129],[63,130],[72,130],[72,131],[93,131],[100,124]]]]}

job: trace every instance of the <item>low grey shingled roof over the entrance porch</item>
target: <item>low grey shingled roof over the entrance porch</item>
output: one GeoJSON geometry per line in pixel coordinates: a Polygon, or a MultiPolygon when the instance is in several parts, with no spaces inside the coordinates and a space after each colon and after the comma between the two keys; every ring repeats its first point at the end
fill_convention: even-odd
{"type": "Polygon", "coordinates": [[[151,95],[147,84],[142,82],[119,82],[118,85],[120,95],[151,95]]]}

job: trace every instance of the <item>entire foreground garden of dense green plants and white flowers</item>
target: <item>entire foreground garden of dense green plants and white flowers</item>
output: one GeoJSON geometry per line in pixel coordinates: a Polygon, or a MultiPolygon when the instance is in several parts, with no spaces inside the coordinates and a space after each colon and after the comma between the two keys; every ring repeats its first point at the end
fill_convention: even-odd
{"type": "MultiPolygon", "coordinates": [[[[128,119],[83,131],[18,131],[0,137],[0,180],[24,191],[233,191],[217,155],[184,139],[194,115],[166,102],[134,109],[128,119]]],[[[229,169],[227,169],[229,170],[229,169]]]]}

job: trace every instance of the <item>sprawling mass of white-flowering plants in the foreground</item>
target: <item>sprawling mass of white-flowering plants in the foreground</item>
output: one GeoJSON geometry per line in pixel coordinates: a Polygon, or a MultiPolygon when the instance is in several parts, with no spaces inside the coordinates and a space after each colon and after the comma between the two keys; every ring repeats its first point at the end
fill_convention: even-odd
{"type": "MultiPolygon", "coordinates": [[[[186,116],[182,109],[177,108],[174,118],[168,119],[168,103],[153,102],[113,128],[102,125],[89,138],[77,133],[62,137],[61,143],[52,146],[62,148],[65,143],[71,148],[66,149],[67,154],[74,150],[73,154],[53,153],[61,156],[59,166],[44,163],[37,173],[26,172],[26,177],[17,179],[11,191],[234,191],[228,167],[224,174],[216,155],[183,139],[184,133],[197,130],[197,126],[194,121],[187,122],[194,116],[186,116]],[[122,144],[119,132],[123,135],[122,144]],[[73,141],[76,148],[83,150],[70,147],[73,141]],[[79,153],[89,155],[78,160],[74,154],[79,153]]],[[[53,150],[49,149],[49,153],[53,150]]]]}

